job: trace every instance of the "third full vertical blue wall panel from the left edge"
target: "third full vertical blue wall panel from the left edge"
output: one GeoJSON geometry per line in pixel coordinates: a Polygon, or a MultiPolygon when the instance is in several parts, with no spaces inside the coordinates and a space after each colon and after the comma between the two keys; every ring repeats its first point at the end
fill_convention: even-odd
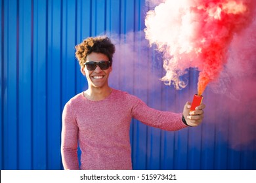
{"type": "Polygon", "coordinates": [[[33,1],[33,169],[47,169],[47,1],[33,1]]]}

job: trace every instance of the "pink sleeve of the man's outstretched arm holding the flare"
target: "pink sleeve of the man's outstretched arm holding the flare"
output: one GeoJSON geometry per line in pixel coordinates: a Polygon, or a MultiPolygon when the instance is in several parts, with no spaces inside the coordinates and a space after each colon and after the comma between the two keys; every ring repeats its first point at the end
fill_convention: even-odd
{"type": "Polygon", "coordinates": [[[176,131],[187,127],[182,122],[182,113],[161,111],[150,108],[137,97],[133,97],[132,102],[133,107],[131,112],[133,118],[139,120],[143,124],[167,131],[176,131]]]}

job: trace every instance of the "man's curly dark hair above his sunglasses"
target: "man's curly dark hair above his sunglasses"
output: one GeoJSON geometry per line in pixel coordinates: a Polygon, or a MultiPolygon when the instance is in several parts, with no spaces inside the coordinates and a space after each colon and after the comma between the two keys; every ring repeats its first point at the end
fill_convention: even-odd
{"type": "Polygon", "coordinates": [[[75,46],[75,57],[79,61],[79,65],[83,67],[87,55],[92,52],[101,53],[108,57],[110,66],[112,65],[112,58],[116,51],[115,45],[108,37],[88,37],[80,44],[75,46]]]}

